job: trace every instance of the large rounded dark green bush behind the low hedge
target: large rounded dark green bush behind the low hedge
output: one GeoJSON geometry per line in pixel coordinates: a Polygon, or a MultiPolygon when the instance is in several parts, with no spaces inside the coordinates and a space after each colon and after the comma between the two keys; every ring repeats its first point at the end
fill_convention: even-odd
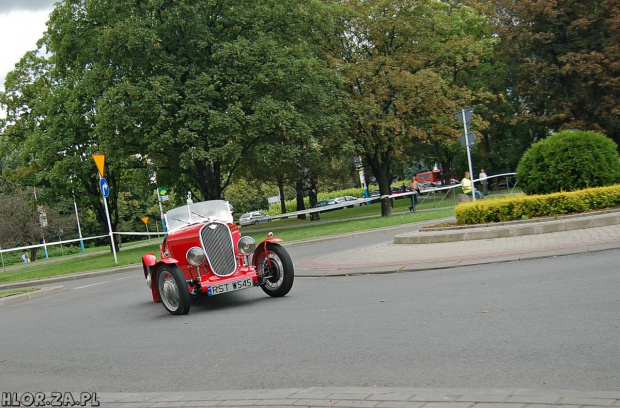
{"type": "Polygon", "coordinates": [[[618,146],[596,132],[565,131],[533,144],[517,166],[526,194],[549,194],[620,181],[618,146]]]}

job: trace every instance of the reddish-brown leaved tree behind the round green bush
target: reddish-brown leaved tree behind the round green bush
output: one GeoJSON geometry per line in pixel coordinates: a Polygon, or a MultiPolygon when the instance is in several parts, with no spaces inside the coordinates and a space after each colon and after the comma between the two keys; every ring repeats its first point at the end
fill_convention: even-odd
{"type": "Polygon", "coordinates": [[[507,89],[531,141],[575,128],[620,141],[619,6],[617,0],[497,2],[507,89]]]}

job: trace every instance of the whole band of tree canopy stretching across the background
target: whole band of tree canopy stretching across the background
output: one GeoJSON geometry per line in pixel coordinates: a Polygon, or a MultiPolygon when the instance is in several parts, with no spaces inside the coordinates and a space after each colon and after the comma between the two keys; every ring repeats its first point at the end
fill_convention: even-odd
{"type": "Polygon", "coordinates": [[[0,93],[2,181],[107,229],[105,154],[115,230],[156,185],[215,199],[242,176],[315,205],[354,153],[388,195],[419,163],[463,170],[469,106],[475,160],[514,170],[557,130],[618,143],[619,23],[617,0],[64,0],[0,93]]]}

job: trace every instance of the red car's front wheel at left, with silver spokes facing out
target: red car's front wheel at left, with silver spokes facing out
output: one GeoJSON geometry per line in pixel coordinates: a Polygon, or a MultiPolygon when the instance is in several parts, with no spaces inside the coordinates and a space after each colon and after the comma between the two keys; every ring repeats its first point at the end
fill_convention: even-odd
{"type": "Polygon", "coordinates": [[[179,268],[173,265],[163,265],[157,271],[155,284],[161,303],[168,312],[176,315],[189,313],[191,296],[187,289],[185,276],[179,268]]]}

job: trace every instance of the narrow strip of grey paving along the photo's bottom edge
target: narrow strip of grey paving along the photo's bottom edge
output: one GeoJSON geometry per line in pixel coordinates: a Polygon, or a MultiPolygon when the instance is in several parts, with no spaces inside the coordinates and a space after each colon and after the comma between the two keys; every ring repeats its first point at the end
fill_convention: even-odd
{"type": "Polygon", "coordinates": [[[620,391],[311,387],[99,393],[102,407],[590,408],[620,407],[620,391]]]}

